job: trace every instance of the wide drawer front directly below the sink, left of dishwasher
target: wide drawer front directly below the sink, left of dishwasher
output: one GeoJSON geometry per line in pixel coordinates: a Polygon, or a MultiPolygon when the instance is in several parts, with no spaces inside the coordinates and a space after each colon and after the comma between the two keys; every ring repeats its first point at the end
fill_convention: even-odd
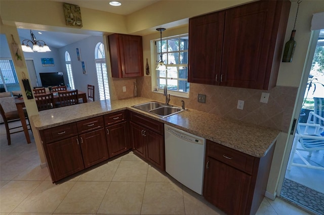
{"type": "Polygon", "coordinates": [[[131,121],[158,134],[164,135],[164,124],[148,117],[131,112],[131,121]]]}

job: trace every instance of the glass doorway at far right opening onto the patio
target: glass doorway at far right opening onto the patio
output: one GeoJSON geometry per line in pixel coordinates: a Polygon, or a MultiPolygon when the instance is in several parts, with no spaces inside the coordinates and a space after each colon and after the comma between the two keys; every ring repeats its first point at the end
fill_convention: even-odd
{"type": "Polygon", "coordinates": [[[316,121],[317,115],[312,114],[324,105],[324,29],[314,31],[312,40],[309,52],[314,55],[309,53],[306,65],[309,69],[303,78],[297,129],[280,197],[311,213],[324,214],[324,120],[316,121]]]}

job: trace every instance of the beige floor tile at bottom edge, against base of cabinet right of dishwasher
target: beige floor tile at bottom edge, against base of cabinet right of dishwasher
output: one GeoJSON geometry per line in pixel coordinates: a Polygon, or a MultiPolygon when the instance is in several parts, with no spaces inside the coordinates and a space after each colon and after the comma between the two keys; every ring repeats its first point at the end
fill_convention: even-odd
{"type": "Polygon", "coordinates": [[[225,215],[205,198],[183,186],[183,199],[186,214],[190,215],[225,215]]]}

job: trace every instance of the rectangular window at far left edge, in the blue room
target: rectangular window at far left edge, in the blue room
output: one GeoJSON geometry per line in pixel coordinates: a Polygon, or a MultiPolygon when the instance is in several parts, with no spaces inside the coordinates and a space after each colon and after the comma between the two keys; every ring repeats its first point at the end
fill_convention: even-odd
{"type": "Polygon", "coordinates": [[[2,91],[20,90],[12,60],[0,60],[0,88],[2,91]]]}

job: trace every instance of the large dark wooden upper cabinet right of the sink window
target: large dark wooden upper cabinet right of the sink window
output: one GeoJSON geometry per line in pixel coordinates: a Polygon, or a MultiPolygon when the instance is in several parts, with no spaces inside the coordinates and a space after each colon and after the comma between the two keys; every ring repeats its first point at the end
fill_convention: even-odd
{"type": "Polygon", "coordinates": [[[189,82],[274,87],[290,5],[290,1],[258,1],[190,19],[189,82]]]}

